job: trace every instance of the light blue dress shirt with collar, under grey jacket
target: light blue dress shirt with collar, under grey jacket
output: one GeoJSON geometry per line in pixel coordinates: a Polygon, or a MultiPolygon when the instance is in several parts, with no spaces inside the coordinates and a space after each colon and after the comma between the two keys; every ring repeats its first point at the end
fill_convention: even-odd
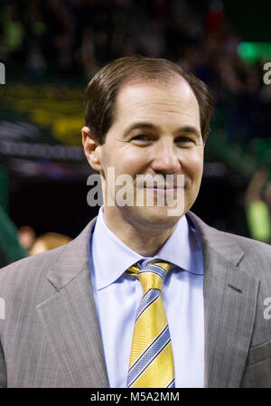
{"type": "MultiPolygon", "coordinates": [[[[164,280],[162,300],[173,345],[175,387],[204,386],[203,260],[197,232],[185,216],[154,258],[175,266],[164,280]]],[[[98,323],[111,388],[125,388],[136,309],[138,279],[126,269],[143,260],[107,228],[103,206],[89,244],[98,323]]]]}

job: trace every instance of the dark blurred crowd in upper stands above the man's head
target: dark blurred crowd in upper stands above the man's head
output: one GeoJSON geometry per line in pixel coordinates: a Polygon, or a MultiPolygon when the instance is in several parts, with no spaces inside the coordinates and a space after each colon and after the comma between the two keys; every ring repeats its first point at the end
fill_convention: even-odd
{"type": "Polygon", "coordinates": [[[48,74],[90,78],[107,61],[135,53],[168,58],[192,71],[223,109],[229,141],[269,137],[271,86],[263,85],[262,61],[238,56],[242,41],[223,3],[204,14],[184,0],[3,1],[0,61],[23,67],[22,79],[48,74]]]}

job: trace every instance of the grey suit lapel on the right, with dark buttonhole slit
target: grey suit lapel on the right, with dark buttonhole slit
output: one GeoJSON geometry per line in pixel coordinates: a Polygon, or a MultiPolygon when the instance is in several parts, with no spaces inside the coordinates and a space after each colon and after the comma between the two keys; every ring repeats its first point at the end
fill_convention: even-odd
{"type": "Polygon", "coordinates": [[[238,387],[257,305],[258,279],[241,269],[244,252],[229,234],[189,212],[204,261],[205,386],[238,387]]]}

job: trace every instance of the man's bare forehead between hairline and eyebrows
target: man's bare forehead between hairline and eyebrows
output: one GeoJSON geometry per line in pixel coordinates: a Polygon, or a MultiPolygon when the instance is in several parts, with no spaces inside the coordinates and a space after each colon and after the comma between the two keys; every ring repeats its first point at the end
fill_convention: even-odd
{"type": "Polygon", "coordinates": [[[133,118],[187,119],[200,126],[200,109],[190,85],[182,77],[162,82],[128,83],[118,91],[115,121],[133,118]]]}

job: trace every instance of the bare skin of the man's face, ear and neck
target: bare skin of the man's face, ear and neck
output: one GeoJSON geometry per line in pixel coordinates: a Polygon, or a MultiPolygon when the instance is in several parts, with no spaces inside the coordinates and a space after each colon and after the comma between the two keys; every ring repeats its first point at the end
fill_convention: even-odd
{"type": "MultiPolygon", "coordinates": [[[[82,129],[83,143],[89,164],[103,176],[105,196],[110,186],[107,184],[108,167],[115,168],[116,179],[123,174],[132,176],[135,197],[138,194],[136,175],[162,175],[164,178],[184,175],[184,212],[188,212],[199,193],[203,168],[204,141],[199,104],[180,74],[173,72],[162,83],[161,79],[143,77],[121,86],[115,119],[105,142],[96,137],[95,129],[90,130],[89,123],[89,127],[82,129]]],[[[91,86],[92,83],[87,94],[92,91],[91,86]]],[[[92,101],[88,103],[90,105],[92,101]]],[[[138,206],[135,200],[132,205],[106,204],[104,208],[107,227],[132,250],[145,256],[153,256],[158,251],[180,218],[168,215],[166,204],[155,204],[159,190],[160,193],[173,193],[172,189],[164,190],[164,184],[163,189],[151,190],[154,205],[138,206]]]]}

